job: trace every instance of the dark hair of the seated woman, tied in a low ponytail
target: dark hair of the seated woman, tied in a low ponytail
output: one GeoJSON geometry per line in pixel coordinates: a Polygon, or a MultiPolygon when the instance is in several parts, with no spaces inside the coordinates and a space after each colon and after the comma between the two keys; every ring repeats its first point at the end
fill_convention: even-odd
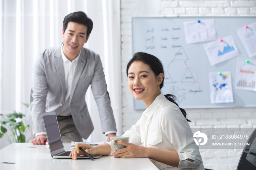
{"type": "MultiPolygon", "coordinates": [[[[162,62],[157,57],[155,57],[154,55],[151,55],[151,54],[139,52],[139,53],[135,53],[133,55],[132,59],[128,62],[127,67],[126,67],[127,76],[128,76],[129,67],[135,61],[141,61],[141,62],[147,64],[148,66],[150,66],[150,69],[154,72],[156,77],[160,73],[164,74],[162,62]]],[[[163,81],[160,84],[160,89],[162,89],[162,87],[163,87],[163,81]]],[[[176,103],[176,100],[177,100],[176,96],[174,96],[172,94],[166,94],[165,97],[166,97],[167,100],[171,101],[172,103],[174,103],[178,106],[178,104],[176,103]]],[[[182,108],[180,108],[180,111],[184,115],[184,117],[186,118],[186,115],[187,115],[186,111],[182,108]]],[[[187,119],[187,121],[191,122],[188,119],[187,119]]]]}

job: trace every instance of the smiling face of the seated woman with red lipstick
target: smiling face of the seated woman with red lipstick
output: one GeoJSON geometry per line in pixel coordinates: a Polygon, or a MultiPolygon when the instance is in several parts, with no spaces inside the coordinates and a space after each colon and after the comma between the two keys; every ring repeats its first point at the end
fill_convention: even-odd
{"type": "Polygon", "coordinates": [[[150,66],[142,61],[133,62],[128,69],[128,87],[136,100],[142,100],[147,107],[161,93],[163,73],[155,76],[150,66]]]}

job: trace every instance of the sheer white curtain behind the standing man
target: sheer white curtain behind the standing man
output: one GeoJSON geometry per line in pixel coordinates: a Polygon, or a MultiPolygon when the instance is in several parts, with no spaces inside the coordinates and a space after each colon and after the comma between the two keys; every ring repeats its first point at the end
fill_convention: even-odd
{"type": "MultiPolygon", "coordinates": [[[[84,47],[101,57],[111,106],[121,135],[121,54],[119,0],[1,0],[0,1],[0,110],[25,113],[35,58],[46,48],[60,45],[64,17],[84,11],[93,30],[84,47]]],[[[88,141],[105,141],[97,105],[90,88],[86,94],[94,131],[88,141]]],[[[0,148],[8,142],[0,139],[0,148]]]]}

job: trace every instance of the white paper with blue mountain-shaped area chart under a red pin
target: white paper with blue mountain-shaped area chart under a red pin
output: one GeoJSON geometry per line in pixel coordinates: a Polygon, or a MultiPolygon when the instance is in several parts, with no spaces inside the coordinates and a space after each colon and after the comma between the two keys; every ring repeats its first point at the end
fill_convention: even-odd
{"type": "Polygon", "coordinates": [[[204,44],[204,49],[210,61],[211,66],[234,58],[239,55],[236,43],[232,35],[219,40],[204,44]]]}

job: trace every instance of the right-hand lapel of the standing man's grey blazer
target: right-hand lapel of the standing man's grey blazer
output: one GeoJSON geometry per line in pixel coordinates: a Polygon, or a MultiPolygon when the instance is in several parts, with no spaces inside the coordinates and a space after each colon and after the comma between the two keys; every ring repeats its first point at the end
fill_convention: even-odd
{"type": "Polygon", "coordinates": [[[80,57],[78,59],[78,63],[76,65],[75,73],[74,73],[74,76],[73,76],[72,86],[71,86],[72,88],[71,88],[70,100],[69,101],[71,101],[71,99],[73,97],[76,85],[77,85],[78,80],[79,80],[79,78],[80,78],[80,76],[81,76],[81,74],[84,70],[85,64],[86,64],[86,54],[85,54],[85,50],[82,49],[80,57]]]}

